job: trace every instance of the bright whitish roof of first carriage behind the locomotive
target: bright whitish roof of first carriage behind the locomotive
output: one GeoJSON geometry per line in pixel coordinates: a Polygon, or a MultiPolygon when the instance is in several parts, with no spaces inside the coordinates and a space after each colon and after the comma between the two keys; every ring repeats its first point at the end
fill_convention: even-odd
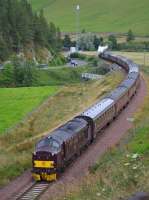
{"type": "Polygon", "coordinates": [[[105,110],[107,110],[111,105],[113,105],[114,101],[110,98],[105,98],[84,111],[81,115],[88,116],[92,119],[95,119],[99,115],[101,115],[105,110]]]}

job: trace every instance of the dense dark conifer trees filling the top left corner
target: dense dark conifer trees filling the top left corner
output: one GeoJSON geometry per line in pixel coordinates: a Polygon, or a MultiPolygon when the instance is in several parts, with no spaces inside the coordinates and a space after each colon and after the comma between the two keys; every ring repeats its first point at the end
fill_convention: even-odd
{"type": "Polygon", "coordinates": [[[27,0],[0,1],[0,60],[23,50],[27,44],[58,50],[60,30],[47,23],[43,10],[33,12],[27,0]]]}

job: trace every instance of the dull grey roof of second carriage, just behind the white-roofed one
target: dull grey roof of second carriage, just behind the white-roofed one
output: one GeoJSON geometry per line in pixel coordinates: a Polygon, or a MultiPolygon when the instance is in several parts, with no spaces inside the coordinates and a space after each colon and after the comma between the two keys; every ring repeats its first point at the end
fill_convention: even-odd
{"type": "Polygon", "coordinates": [[[120,96],[122,96],[126,92],[127,88],[123,86],[117,87],[110,94],[107,95],[108,98],[113,100],[118,100],[120,96]]]}

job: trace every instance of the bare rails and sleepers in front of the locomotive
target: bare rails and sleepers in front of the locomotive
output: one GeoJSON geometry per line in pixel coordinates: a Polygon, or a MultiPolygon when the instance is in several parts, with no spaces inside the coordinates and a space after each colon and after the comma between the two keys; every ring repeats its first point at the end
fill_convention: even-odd
{"type": "Polygon", "coordinates": [[[49,183],[33,183],[24,192],[18,193],[12,200],[35,200],[49,187],[49,183]]]}

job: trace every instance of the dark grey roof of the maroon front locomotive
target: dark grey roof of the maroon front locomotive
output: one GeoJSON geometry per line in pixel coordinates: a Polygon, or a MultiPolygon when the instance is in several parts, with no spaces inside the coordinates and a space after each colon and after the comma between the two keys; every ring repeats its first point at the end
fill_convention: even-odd
{"type": "Polygon", "coordinates": [[[71,138],[73,135],[80,132],[87,125],[84,119],[74,118],[61,127],[54,130],[48,137],[57,140],[62,144],[67,139],[71,138]]]}

